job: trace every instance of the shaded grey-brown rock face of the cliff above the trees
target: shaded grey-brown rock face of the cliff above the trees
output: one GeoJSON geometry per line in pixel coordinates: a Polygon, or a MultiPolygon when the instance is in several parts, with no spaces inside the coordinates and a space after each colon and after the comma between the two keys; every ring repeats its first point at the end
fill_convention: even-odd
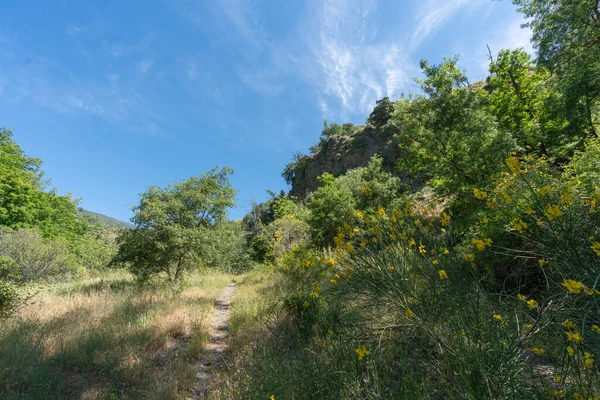
{"type": "Polygon", "coordinates": [[[318,187],[317,177],[325,172],[340,176],[347,171],[364,167],[375,154],[383,157],[383,166],[395,172],[394,164],[403,151],[394,139],[394,132],[379,131],[367,126],[353,136],[330,137],[320,151],[310,154],[294,169],[290,194],[303,200],[318,187]]]}

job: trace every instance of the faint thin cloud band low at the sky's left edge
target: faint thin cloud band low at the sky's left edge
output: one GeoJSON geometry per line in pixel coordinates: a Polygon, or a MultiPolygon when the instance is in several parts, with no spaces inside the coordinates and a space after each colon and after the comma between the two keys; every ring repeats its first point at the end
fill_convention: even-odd
{"type": "MultiPolygon", "coordinates": [[[[0,42],[0,58],[6,61],[0,66],[2,101],[23,106],[30,102],[60,114],[96,116],[131,127],[139,120],[157,127],[163,122],[160,107],[142,94],[139,81],[122,79],[112,71],[77,75],[58,60],[30,53],[14,39],[0,42]]],[[[148,73],[152,67],[150,59],[133,64],[137,74],[148,73]]],[[[157,129],[149,133],[156,135],[157,129]]]]}

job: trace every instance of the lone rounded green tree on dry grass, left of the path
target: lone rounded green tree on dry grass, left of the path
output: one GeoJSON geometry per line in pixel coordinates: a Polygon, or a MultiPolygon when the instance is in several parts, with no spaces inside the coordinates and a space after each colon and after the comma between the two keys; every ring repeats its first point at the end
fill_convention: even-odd
{"type": "Polygon", "coordinates": [[[235,205],[232,173],[215,167],[164,189],[148,188],[133,208],[135,228],[117,238],[114,263],[126,263],[140,281],[161,273],[177,281],[199,266],[209,256],[213,232],[226,221],[227,208],[235,205]]]}

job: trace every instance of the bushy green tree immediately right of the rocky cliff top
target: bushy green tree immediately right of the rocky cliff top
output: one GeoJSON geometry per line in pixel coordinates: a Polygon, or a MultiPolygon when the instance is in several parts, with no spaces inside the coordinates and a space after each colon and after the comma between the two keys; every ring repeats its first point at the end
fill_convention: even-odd
{"type": "Polygon", "coordinates": [[[408,156],[399,167],[426,172],[443,194],[464,194],[490,182],[513,143],[484,108],[485,94],[469,85],[456,59],[441,65],[421,62],[425,95],[396,103],[394,123],[408,156]]]}

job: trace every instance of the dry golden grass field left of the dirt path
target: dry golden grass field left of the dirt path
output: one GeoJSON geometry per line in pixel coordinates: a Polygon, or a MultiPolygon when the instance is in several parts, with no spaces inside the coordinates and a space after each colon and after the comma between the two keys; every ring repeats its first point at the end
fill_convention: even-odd
{"type": "Polygon", "coordinates": [[[185,398],[231,279],[193,274],[174,292],[117,271],[44,289],[0,327],[0,398],[185,398]]]}

